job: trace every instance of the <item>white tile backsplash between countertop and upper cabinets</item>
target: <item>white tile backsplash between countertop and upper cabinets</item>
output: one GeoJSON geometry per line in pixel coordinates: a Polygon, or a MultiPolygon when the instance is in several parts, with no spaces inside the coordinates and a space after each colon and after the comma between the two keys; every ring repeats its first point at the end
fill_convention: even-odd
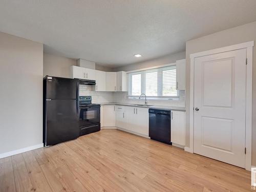
{"type": "MultiPolygon", "coordinates": [[[[97,92],[92,91],[93,86],[80,85],[79,95],[80,96],[92,96],[93,103],[104,103],[104,102],[122,102],[122,103],[136,103],[143,104],[143,99],[129,99],[127,98],[127,92],[97,92]]],[[[185,91],[179,91],[180,99],[178,101],[172,100],[148,100],[148,104],[153,105],[167,105],[167,106],[185,106],[185,91]]]]}

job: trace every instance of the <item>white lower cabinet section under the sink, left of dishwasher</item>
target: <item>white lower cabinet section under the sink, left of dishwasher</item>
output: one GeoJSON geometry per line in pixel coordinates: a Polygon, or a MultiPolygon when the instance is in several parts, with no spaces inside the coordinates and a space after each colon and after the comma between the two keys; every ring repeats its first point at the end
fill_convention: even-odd
{"type": "Polygon", "coordinates": [[[129,132],[148,136],[148,109],[117,105],[116,126],[129,132]],[[120,108],[120,109],[119,109],[120,108]]]}

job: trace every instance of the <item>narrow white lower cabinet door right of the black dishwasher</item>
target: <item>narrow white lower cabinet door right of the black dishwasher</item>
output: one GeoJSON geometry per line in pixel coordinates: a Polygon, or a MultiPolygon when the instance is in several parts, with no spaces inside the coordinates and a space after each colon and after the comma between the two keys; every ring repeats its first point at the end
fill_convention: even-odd
{"type": "Polygon", "coordinates": [[[170,140],[179,145],[185,145],[185,112],[172,111],[170,140]]]}

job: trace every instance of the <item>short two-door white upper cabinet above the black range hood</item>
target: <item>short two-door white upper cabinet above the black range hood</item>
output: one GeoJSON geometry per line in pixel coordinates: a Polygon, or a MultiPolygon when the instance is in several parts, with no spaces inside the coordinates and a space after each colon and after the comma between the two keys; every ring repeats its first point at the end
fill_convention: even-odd
{"type": "Polygon", "coordinates": [[[95,80],[96,75],[94,69],[88,69],[78,66],[71,66],[71,78],[78,78],[78,79],[90,79],[95,80]]]}

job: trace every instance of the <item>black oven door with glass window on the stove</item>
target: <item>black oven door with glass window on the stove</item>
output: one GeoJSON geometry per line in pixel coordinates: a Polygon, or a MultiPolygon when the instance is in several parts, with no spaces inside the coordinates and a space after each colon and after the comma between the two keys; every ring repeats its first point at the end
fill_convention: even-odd
{"type": "Polygon", "coordinates": [[[90,125],[92,123],[100,122],[100,108],[81,108],[80,109],[80,117],[79,117],[79,125],[90,125]]]}

